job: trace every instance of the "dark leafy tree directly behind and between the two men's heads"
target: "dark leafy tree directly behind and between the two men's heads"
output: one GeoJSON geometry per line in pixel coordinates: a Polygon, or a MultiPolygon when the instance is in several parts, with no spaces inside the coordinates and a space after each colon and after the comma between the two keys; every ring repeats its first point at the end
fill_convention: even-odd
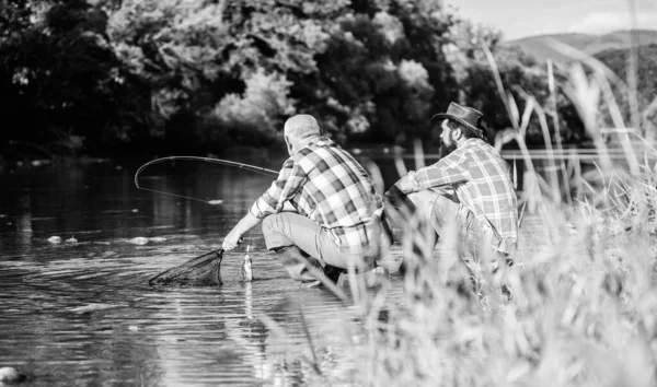
{"type": "Polygon", "coordinates": [[[453,90],[439,11],[438,1],[354,2],[316,55],[319,71],[292,79],[300,109],[345,140],[429,138],[430,112],[453,90]]]}

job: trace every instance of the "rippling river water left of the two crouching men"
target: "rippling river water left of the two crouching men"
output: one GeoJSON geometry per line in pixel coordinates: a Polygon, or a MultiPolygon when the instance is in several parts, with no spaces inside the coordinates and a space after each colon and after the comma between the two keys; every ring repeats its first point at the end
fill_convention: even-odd
{"type": "MultiPolygon", "coordinates": [[[[224,255],[222,286],[148,285],[220,247],[272,178],[163,163],[140,179],[222,200],[209,206],[136,189],[136,166],[41,165],[0,175],[0,367],[19,368],[30,386],[347,383],[350,370],[335,359],[347,350],[341,321],[353,306],[288,279],[260,228],[224,255]],[[246,245],[253,283],[238,280],[246,245]],[[306,326],[322,374],[309,361],[306,326]]],[[[392,293],[400,288],[393,281],[392,293]]]]}

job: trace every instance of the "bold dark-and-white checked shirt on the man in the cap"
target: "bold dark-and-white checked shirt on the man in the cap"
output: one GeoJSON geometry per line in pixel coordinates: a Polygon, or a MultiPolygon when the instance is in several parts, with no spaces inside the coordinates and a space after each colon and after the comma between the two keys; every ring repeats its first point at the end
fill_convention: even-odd
{"type": "Polygon", "coordinates": [[[344,251],[369,247],[372,215],[381,211],[381,197],[362,166],[325,137],[285,161],[278,178],[249,210],[263,219],[290,203],[299,214],[326,228],[344,251]]]}

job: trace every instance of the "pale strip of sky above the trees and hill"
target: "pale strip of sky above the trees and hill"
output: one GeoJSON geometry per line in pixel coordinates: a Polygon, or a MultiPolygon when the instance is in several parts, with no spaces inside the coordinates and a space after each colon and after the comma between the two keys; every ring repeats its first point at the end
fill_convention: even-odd
{"type": "Polygon", "coordinates": [[[457,14],[493,26],[506,39],[553,34],[657,30],[657,0],[443,0],[457,14]],[[631,8],[636,12],[630,12],[631,8]],[[635,17],[631,17],[634,14],[635,17]]]}

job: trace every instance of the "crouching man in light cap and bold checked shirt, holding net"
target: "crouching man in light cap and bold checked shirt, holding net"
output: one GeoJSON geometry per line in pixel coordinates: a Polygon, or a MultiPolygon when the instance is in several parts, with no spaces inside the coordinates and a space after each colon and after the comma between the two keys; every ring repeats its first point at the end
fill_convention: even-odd
{"type": "Polygon", "coordinates": [[[367,270],[390,248],[381,232],[382,199],[366,171],[321,134],[309,115],[284,126],[289,159],[278,178],[223,239],[235,248],[244,233],[263,223],[265,244],[290,277],[333,282],[348,268],[367,270]]]}

